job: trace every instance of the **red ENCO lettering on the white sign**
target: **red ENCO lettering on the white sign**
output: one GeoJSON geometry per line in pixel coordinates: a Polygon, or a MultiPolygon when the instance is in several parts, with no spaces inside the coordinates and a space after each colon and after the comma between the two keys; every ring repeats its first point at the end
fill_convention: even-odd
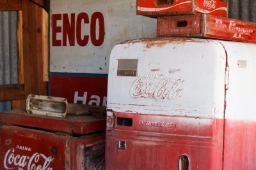
{"type": "Polygon", "coordinates": [[[89,18],[85,12],[54,14],[52,15],[52,46],[67,46],[67,41],[70,46],[75,45],[75,41],[79,46],[86,46],[89,38],[94,46],[100,46],[104,42],[104,16],[96,11],[89,18]],[[57,23],[62,22],[62,27],[57,23]],[[97,22],[99,29],[96,30],[97,22]],[[90,35],[82,30],[82,27],[90,27],[90,35]],[[57,34],[61,34],[61,39],[57,38],[57,34]]]}

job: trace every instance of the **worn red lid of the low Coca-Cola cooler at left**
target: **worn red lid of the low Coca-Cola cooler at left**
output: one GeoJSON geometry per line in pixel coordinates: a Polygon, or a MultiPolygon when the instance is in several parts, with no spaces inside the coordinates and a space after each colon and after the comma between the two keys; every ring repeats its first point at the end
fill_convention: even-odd
{"type": "Polygon", "coordinates": [[[88,134],[105,131],[106,120],[87,115],[67,115],[65,118],[32,115],[23,110],[11,110],[0,113],[3,124],[45,129],[45,131],[68,134],[88,134]]]}

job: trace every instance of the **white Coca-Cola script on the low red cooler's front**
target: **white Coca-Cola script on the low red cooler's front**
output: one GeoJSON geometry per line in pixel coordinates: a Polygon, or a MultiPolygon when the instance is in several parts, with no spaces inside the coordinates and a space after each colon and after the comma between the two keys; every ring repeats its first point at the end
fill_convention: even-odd
{"type": "Polygon", "coordinates": [[[52,170],[49,167],[52,162],[52,157],[45,157],[42,153],[34,153],[31,157],[26,155],[15,155],[15,149],[12,148],[8,150],[4,155],[4,168],[5,169],[23,169],[23,167],[28,166],[27,170],[52,170]],[[43,162],[39,164],[39,162],[43,162]]]}

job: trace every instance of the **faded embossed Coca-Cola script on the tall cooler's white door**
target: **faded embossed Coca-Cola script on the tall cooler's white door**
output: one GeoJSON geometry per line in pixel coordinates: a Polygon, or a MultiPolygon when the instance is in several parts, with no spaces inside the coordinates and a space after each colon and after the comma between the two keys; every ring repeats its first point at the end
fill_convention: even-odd
{"type": "Polygon", "coordinates": [[[130,96],[136,98],[175,100],[181,97],[181,85],[184,80],[163,78],[163,75],[147,74],[132,83],[130,96]]]}

